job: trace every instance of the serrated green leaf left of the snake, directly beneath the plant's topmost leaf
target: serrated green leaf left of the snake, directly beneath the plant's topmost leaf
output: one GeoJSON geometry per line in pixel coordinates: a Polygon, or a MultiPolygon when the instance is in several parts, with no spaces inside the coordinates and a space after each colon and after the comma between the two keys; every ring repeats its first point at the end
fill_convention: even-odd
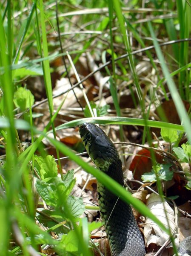
{"type": "Polygon", "coordinates": [[[40,196],[48,205],[57,206],[57,189],[54,184],[48,184],[43,180],[37,180],[36,188],[40,196]]]}

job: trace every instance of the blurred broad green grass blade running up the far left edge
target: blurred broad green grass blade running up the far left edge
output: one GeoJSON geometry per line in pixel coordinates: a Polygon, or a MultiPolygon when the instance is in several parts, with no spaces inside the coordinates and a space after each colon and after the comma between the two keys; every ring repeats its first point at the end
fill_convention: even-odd
{"type": "MultiPolygon", "coordinates": [[[[9,9],[9,8],[8,8],[9,9]]],[[[11,15],[9,15],[11,19],[11,15]]],[[[11,21],[9,21],[11,24],[11,21]]],[[[11,53],[6,49],[6,37],[5,30],[2,22],[2,17],[0,13],[0,63],[4,67],[4,73],[0,76],[0,84],[3,88],[3,100],[4,100],[4,111],[5,116],[9,119],[9,128],[6,131],[7,140],[6,140],[6,171],[4,173],[6,179],[6,197],[0,200],[2,210],[1,216],[5,224],[0,228],[0,233],[3,234],[3,239],[1,240],[1,255],[6,256],[9,248],[9,231],[10,231],[10,220],[12,212],[12,201],[14,194],[12,193],[10,181],[14,178],[14,175],[17,176],[16,165],[16,155],[17,155],[17,145],[16,145],[16,134],[14,128],[14,119],[13,119],[13,86],[12,86],[12,76],[11,70],[9,68],[9,59],[8,55],[11,56],[11,53]],[[2,244],[3,241],[3,244],[2,244]]],[[[9,35],[11,37],[11,35],[9,35]]],[[[12,49],[12,46],[9,45],[9,50],[12,49]]],[[[4,194],[3,194],[4,195],[4,194]]],[[[1,225],[0,225],[1,226],[1,225]]]]}

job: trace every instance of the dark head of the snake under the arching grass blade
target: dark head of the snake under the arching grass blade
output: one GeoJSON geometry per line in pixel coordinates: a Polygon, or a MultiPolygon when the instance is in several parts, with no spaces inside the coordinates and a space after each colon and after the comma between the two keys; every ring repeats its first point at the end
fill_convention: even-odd
{"type": "Polygon", "coordinates": [[[83,144],[97,168],[107,172],[109,166],[120,157],[117,149],[105,132],[92,123],[83,123],[79,126],[83,144]]]}

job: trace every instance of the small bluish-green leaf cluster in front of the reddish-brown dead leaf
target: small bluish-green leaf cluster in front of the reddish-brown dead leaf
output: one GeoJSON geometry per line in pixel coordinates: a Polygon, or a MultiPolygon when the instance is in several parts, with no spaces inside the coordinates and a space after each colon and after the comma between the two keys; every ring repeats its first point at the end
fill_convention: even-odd
{"type": "Polygon", "coordinates": [[[147,172],[141,176],[143,182],[155,182],[158,180],[171,180],[173,172],[170,170],[171,164],[157,164],[153,166],[151,172],[147,172]]]}

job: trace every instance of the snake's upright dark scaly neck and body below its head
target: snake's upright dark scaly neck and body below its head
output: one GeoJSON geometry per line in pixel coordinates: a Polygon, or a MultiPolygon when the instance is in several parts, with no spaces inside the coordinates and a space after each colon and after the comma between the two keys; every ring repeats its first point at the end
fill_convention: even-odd
{"type": "MultiPolygon", "coordinates": [[[[123,186],[123,171],[120,159],[111,164],[107,174],[123,186]]],[[[143,237],[131,206],[110,192],[100,182],[97,182],[97,192],[101,218],[105,223],[105,232],[108,237],[111,255],[144,256],[143,237]]]]}

